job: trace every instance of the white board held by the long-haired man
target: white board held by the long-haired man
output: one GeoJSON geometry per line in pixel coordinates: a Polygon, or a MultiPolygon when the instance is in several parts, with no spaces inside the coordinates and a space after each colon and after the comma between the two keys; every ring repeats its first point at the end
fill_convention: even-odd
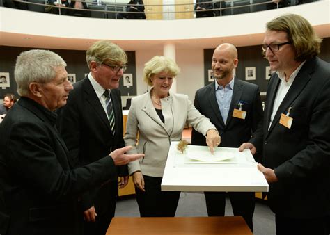
{"type": "MultiPolygon", "coordinates": [[[[162,179],[162,191],[222,191],[267,192],[269,185],[257,169],[257,163],[249,150],[238,152],[228,161],[204,163],[191,161],[187,154],[177,150],[178,141],[171,142],[162,179]]],[[[188,145],[187,152],[200,152],[207,146],[188,145]]],[[[221,149],[221,148],[219,148],[221,149]]],[[[216,149],[218,151],[218,149],[216,149]]]]}

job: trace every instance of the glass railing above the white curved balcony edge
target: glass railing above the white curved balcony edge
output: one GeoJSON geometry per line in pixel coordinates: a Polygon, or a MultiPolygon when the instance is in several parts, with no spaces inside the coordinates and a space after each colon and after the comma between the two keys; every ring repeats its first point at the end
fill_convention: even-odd
{"type": "MultiPolygon", "coordinates": [[[[168,1],[167,1],[168,2],[168,1]]],[[[178,1],[182,2],[182,1],[178,1]]],[[[186,3],[166,4],[126,4],[115,1],[69,1],[69,0],[0,0],[0,5],[57,15],[72,15],[78,17],[93,17],[104,19],[191,19],[195,17],[221,17],[242,13],[254,13],[307,3],[312,1],[207,1],[201,4],[192,0],[186,3]],[[10,2],[11,4],[8,4],[10,2]],[[292,2],[295,2],[294,4],[292,2]],[[206,4],[206,5],[205,5],[206,4]],[[209,6],[207,6],[207,4],[209,6]],[[207,7],[205,7],[207,6],[207,7]]]]}

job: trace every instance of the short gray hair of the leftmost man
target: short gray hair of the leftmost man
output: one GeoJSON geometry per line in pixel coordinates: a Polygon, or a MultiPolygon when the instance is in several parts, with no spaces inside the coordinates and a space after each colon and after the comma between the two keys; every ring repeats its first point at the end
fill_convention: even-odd
{"type": "Polygon", "coordinates": [[[17,57],[15,65],[17,93],[27,96],[30,83],[51,81],[56,76],[55,68],[58,66],[65,67],[66,63],[61,56],[52,51],[39,49],[23,51],[17,57]]]}

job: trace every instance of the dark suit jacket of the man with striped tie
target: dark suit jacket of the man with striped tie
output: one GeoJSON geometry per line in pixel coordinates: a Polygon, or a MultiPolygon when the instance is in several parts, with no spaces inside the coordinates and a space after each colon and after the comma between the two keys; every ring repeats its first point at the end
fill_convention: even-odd
{"type": "MultiPolygon", "coordinates": [[[[116,134],[112,136],[107,113],[105,113],[95,90],[88,77],[74,83],[70,91],[68,103],[58,110],[58,129],[69,149],[70,161],[74,166],[86,165],[104,156],[111,151],[124,147],[123,140],[123,113],[118,89],[111,90],[111,100],[115,113],[116,134]]],[[[127,166],[120,168],[120,175],[128,175],[127,166]]],[[[112,183],[117,184],[117,177],[112,183]]],[[[118,193],[109,184],[95,188],[82,197],[82,206],[86,210],[95,206],[96,213],[101,215],[109,208],[111,193],[118,193]]]]}

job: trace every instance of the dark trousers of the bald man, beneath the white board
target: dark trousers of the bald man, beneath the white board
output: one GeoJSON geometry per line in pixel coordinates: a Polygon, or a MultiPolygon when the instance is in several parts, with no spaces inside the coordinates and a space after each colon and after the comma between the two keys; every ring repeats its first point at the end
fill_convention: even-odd
{"type": "Polygon", "coordinates": [[[225,216],[226,195],[233,207],[234,216],[242,216],[253,232],[255,193],[251,192],[204,192],[208,216],[225,216]]]}

